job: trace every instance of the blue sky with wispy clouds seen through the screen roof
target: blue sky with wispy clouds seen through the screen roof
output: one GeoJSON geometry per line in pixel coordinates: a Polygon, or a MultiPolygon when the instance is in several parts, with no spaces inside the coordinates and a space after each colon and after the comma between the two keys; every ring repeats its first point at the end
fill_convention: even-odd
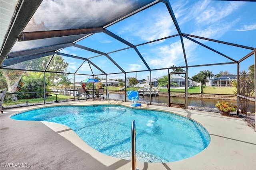
{"type": "MultiPolygon", "coordinates": [[[[182,33],[256,47],[256,2],[174,0],[170,1],[170,4],[182,33]]],[[[164,3],[158,3],[106,29],[134,45],[177,34],[172,18],[164,3]]],[[[252,51],[202,39],[194,39],[235,60],[241,59],[252,51]]],[[[183,38],[183,41],[189,66],[232,62],[222,55],[214,53],[186,38],[183,38]]],[[[96,33],[77,43],[104,53],[128,47],[104,33],[96,33]]],[[[173,65],[185,66],[179,36],[141,45],[137,48],[151,69],[168,68],[173,65]]],[[[68,47],[60,52],[85,58],[98,55],[76,47],[68,47]]],[[[127,72],[147,70],[147,67],[134,49],[110,53],[109,56],[127,72]]],[[[77,59],[64,58],[69,63],[68,71],[70,72],[74,72],[79,63],[82,64],[82,61],[77,59]]],[[[90,60],[107,73],[121,72],[105,56],[90,60]]],[[[248,70],[251,64],[254,64],[254,56],[243,61],[240,64],[240,70],[248,70]]],[[[95,74],[101,73],[94,67],[92,69],[95,74]]],[[[227,70],[236,74],[236,64],[191,67],[188,68],[188,76],[192,77],[201,70],[210,70],[213,74],[227,70]]],[[[78,70],[78,73],[82,74],[89,74],[89,72],[90,69],[87,62],[78,70]]],[[[152,71],[152,78],[163,76],[167,73],[167,70],[152,71]]],[[[149,72],[137,72],[128,73],[126,76],[137,76],[137,79],[146,79],[149,75],[149,72]]],[[[105,76],[99,77],[105,78],[105,76]]],[[[76,76],[76,81],[86,78],[86,76],[76,76]]],[[[108,75],[109,78],[124,79],[124,74],[111,74],[108,75]]]]}

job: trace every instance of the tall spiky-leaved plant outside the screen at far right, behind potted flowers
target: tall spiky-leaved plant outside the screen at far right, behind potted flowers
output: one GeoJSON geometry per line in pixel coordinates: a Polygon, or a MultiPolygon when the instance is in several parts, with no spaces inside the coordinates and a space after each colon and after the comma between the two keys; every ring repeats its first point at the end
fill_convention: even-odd
{"type": "MultiPolygon", "coordinates": [[[[247,74],[248,72],[245,70],[239,72],[239,91],[237,93],[237,91],[234,90],[233,93],[252,98],[252,94],[255,92],[254,80],[249,78],[247,74]]],[[[230,84],[237,88],[237,80],[231,80],[230,84]]],[[[246,98],[239,98],[239,107],[242,113],[247,113],[249,104],[250,100],[246,98]]]]}

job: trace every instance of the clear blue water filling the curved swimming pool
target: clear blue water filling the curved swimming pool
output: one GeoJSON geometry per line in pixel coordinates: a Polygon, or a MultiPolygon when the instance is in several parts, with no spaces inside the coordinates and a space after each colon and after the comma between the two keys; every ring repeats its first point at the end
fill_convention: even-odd
{"type": "Polygon", "coordinates": [[[194,156],[210,143],[198,123],[164,111],[118,105],[45,107],[12,119],[50,121],[70,127],[92,148],[131,160],[131,124],[136,123],[136,155],[142,162],[173,162],[194,156]]]}

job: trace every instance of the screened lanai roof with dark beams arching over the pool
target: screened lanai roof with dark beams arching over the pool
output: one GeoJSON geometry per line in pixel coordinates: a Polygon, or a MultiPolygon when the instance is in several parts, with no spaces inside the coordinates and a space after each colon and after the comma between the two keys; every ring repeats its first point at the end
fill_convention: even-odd
{"type": "MultiPolygon", "coordinates": [[[[245,24],[254,24],[255,2],[184,1],[191,3],[191,8],[203,3],[205,9],[200,12],[204,15],[193,9],[184,8],[178,1],[168,0],[0,2],[1,68],[27,70],[29,68],[20,67],[19,63],[49,55],[61,55],[66,61],[72,59],[67,72],[97,76],[168,69],[170,64],[173,64],[169,61],[176,62],[175,65],[182,68],[236,64],[253,55],[256,47],[256,43],[248,44],[246,41],[255,39],[255,31],[252,32],[252,37],[243,36],[242,31],[218,32],[220,27],[228,27],[228,24],[238,23],[238,20],[243,21],[243,18],[251,18],[251,23],[245,24]],[[219,9],[213,7],[213,4],[217,4],[219,9]],[[247,11],[241,12],[240,6],[248,6],[247,11]],[[220,14],[210,14],[213,8],[220,14]],[[148,9],[153,9],[154,13],[148,15],[148,9]],[[236,15],[228,16],[227,10],[236,10],[236,15]],[[201,18],[196,18],[196,15],[193,15],[193,18],[192,12],[201,18]],[[143,15],[138,16],[142,13],[143,15]],[[185,14],[187,16],[180,17],[185,14]],[[208,23],[208,17],[211,16],[207,15],[219,18],[208,23]],[[223,23],[223,15],[237,21],[223,23]],[[131,18],[130,23],[126,22],[130,25],[124,25],[127,18],[131,18]],[[163,18],[167,22],[157,25],[156,23],[160,23],[157,21],[162,21],[163,18]],[[189,25],[184,24],[184,18],[189,25]],[[150,23],[150,26],[146,31],[140,31],[138,27],[143,27],[146,23],[150,23]],[[193,32],[193,27],[200,26],[201,31],[193,32]],[[205,34],[204,31],[211,27],[214,27],[212,31],[218,33],[205,34]],[[225,39],[225,35],[230,33],[234,34],[234,39],[225,39]],[[220,34],[222,36],[217,36],[220,34]],[[240,42],[238,39],[242,39],[244,44],[237,43],[240,42]],[[96,42],[96,45],[93,46],[92,42],[96,42]],[[173,46],[178,46],[180,50],[175,51],[173,46]],[[146,51],[146,47],[150,47],[150,51],[146,51]],[[197,53],[200,53],[202,48],[208,49],[209,52],[198,55],[202,58],[193,58],[189,48],[196,49],[197,53]],[[152,55],[154,52],[158,52],[157,55],[152,55]],[[214,59],[214,62],[209,63],[210,58],[214,59]],[[107,64],[101,63],[102,61],[106,61],[107,64]],[[136,64],[132,61],[136,61],[136,64]],[[72,63],[75,67],[73,69],[72,63]]],[[[48,62],[50,61],[49,58],[48,62]]]]}

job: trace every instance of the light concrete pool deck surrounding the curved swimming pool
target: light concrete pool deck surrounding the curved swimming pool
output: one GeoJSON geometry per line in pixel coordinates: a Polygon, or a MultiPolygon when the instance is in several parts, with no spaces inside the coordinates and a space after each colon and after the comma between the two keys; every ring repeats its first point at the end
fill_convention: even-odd
{"type": "MultiPolygon", "coordinates": [[[[110,104],[130,106],[129,102],[110,104]]],[[[72,101],[4,109],[0,114],[1,170],[130,170],[131,161],[106,156],[89,147],[72,129],[45,121],[10,119],[14,113],[55,105],[108,104],[107,101],[72,101]],[[19,168],[22,166],[23,168],[19,168]]],[[[190,158],[169,163],[138,162],[139,170],[254,170],[256,132],[242,119],[218,113],[142,104],[191,118],[210,133],[210,145],[190,158]]]]}

